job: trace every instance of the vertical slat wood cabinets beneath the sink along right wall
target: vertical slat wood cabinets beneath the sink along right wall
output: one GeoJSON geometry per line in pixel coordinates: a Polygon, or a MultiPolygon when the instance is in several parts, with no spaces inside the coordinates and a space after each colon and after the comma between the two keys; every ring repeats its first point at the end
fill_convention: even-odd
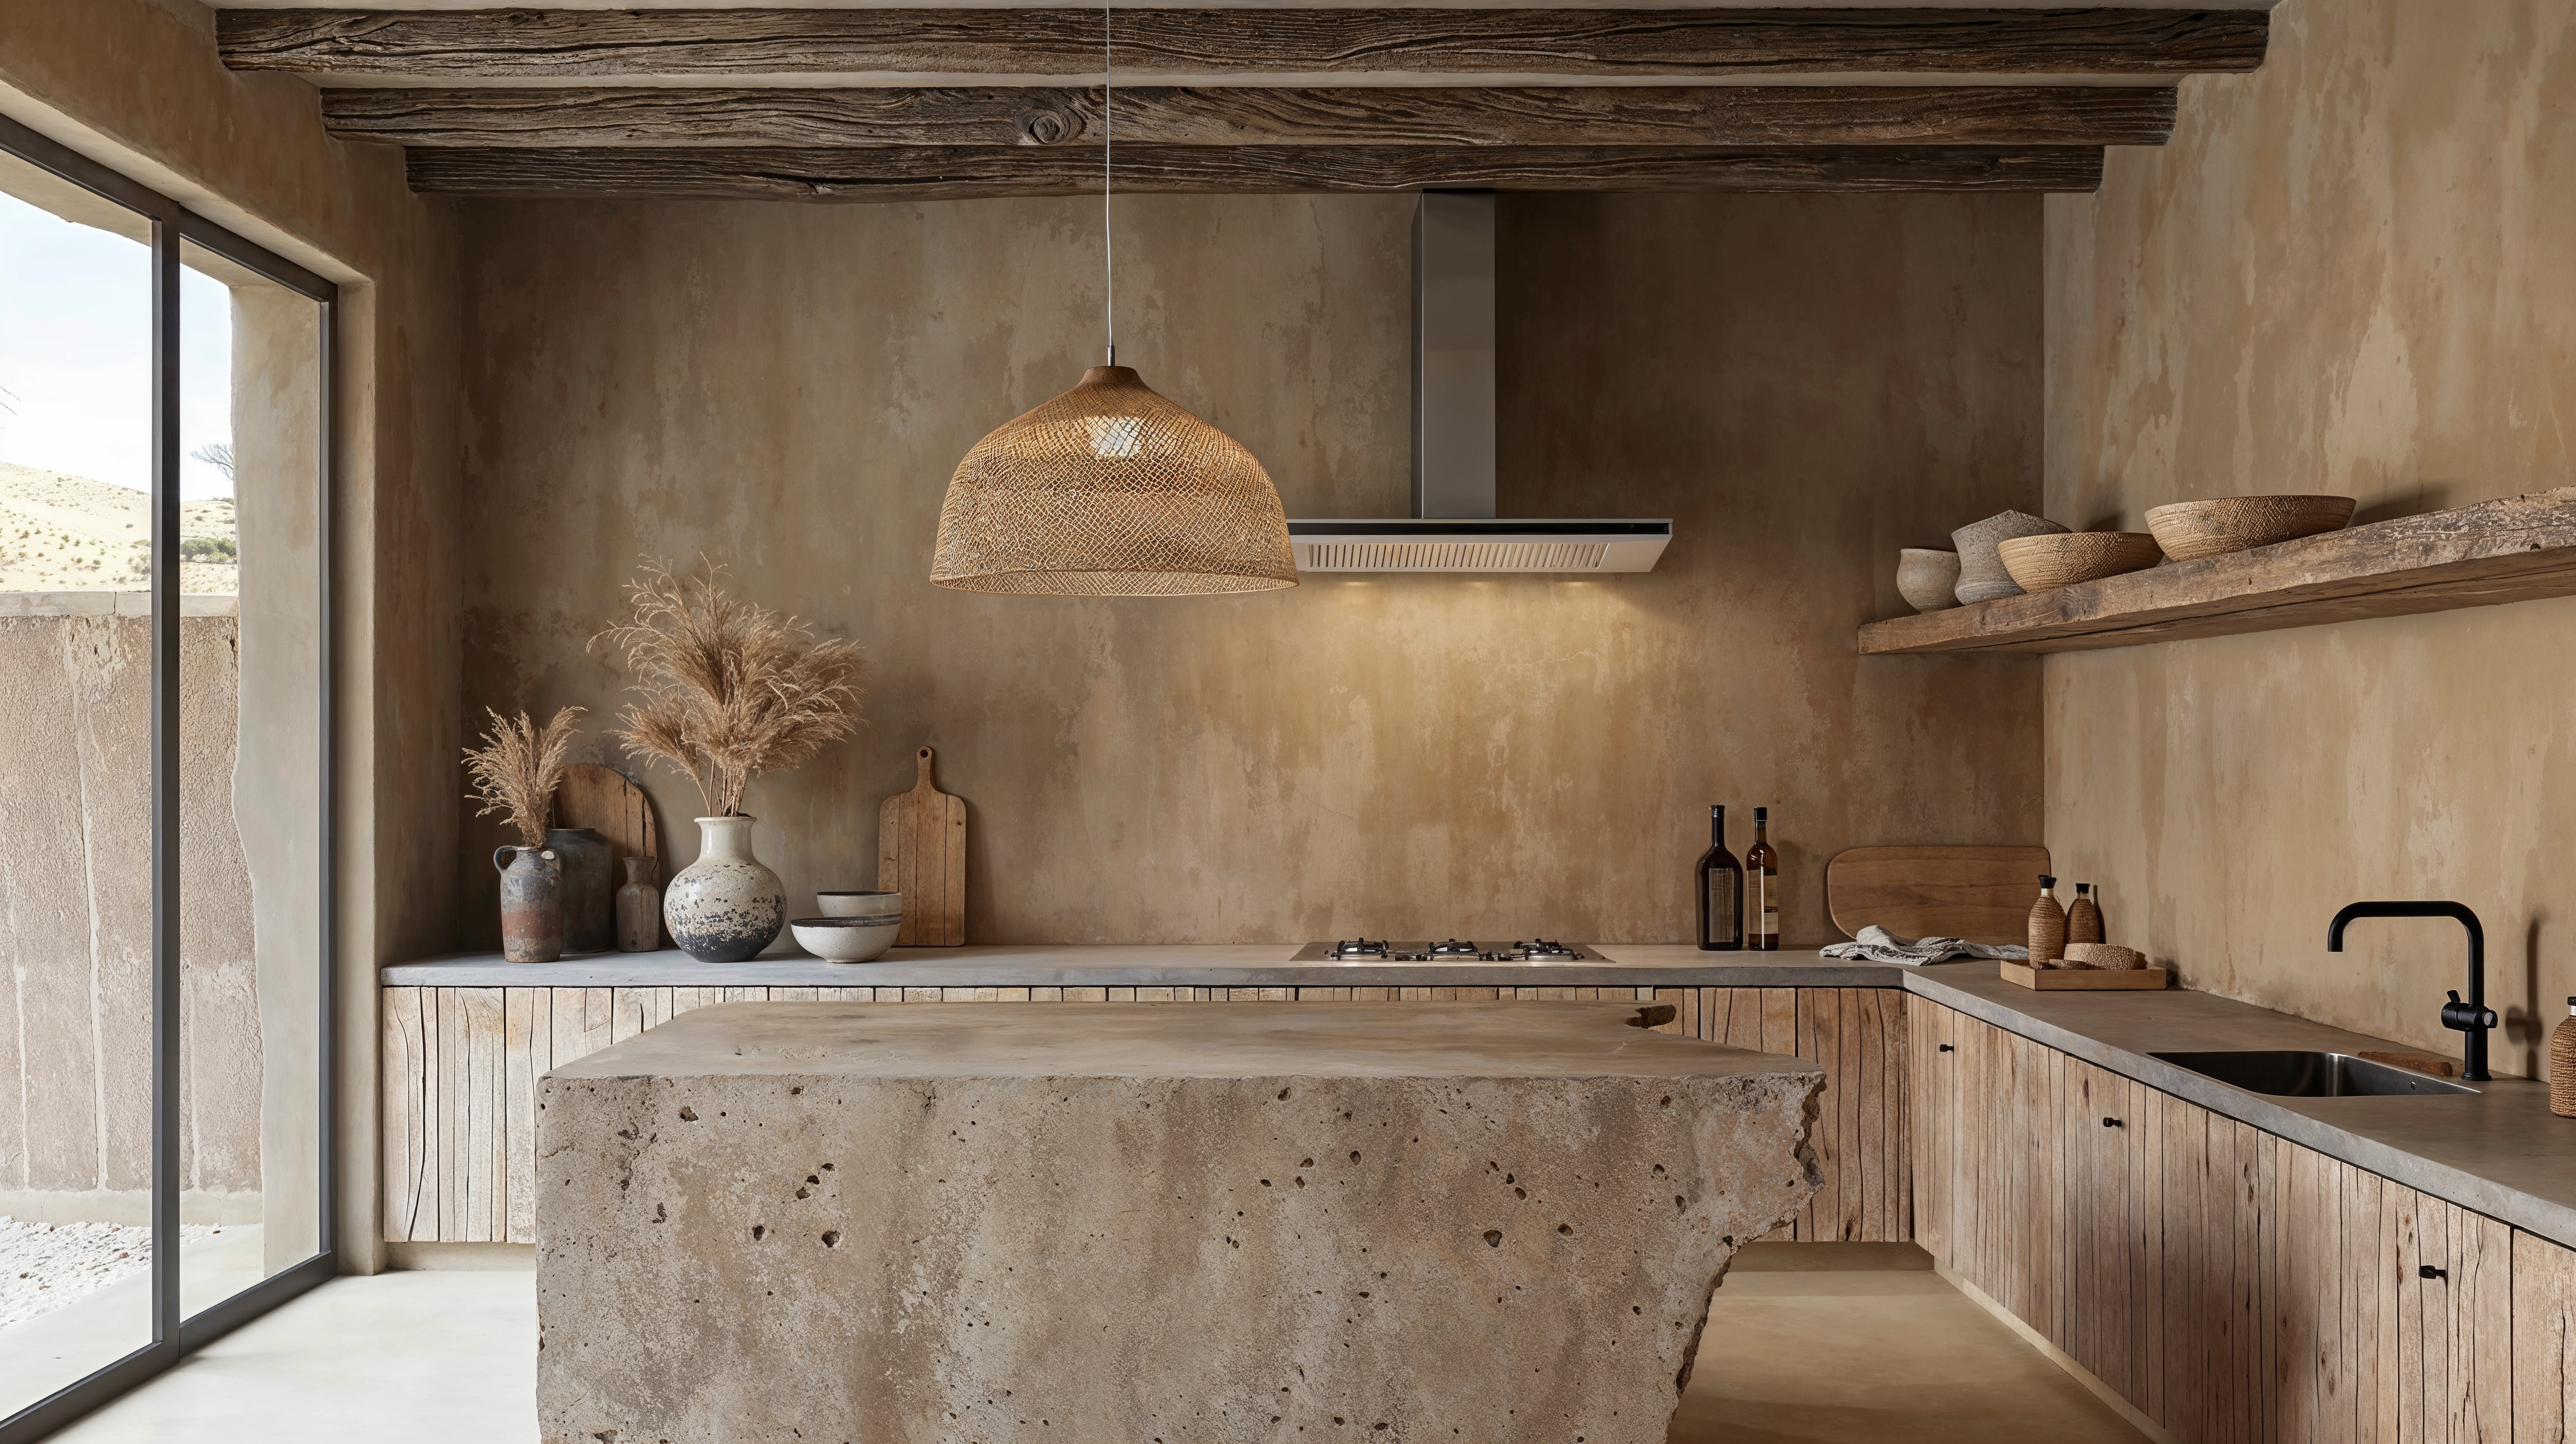
{"type": "Polygon", "coordinates": [[[1917,1238],[2177,1439],[2571,1436],[2576,1251],[1922,998],[1909,1039],[1917,1238]]]}

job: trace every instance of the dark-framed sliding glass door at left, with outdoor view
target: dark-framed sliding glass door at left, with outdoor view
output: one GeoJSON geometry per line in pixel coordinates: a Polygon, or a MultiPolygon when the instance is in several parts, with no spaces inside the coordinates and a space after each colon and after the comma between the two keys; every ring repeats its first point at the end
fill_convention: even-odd
{"type": "Polygon", "coordinates": [[[0,121],[0,1444],[332,1274],[335,302],[0,121]]]}

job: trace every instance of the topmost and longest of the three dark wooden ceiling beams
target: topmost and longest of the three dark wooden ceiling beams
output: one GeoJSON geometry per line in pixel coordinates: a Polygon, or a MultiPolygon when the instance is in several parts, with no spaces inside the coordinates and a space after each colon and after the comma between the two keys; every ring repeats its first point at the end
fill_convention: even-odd
{"type": "MultiPolygon", "coordinates": [[[[1121,10],[1118,72],[2190,75],[2262,10],[1121,10]]],[[[1100,10],[222,10],[234,70],[1097,75],[1100,10]]]]}

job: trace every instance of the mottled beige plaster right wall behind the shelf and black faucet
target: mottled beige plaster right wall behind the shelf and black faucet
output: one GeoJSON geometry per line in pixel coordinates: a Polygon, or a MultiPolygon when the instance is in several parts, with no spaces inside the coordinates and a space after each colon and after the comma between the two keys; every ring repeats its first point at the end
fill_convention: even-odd
{"type": "MultiPolygon", "coordinates": [[[[2257,75],[2048,201],[2048,513],[2360,518],[2576,480],[2576,3],[2285,0],[2257,75]]],[[[2458,1052],[2458,897],[2530,1070],[2576,993],[2576,603],[2050,658],[2048,843],[2184,982],[2458,1052]]]]}

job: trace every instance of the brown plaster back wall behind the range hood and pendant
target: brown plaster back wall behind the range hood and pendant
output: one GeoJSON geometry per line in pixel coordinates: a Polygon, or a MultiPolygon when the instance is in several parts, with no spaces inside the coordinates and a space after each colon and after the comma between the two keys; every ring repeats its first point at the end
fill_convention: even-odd
{"type": "MultiPolygon", "coordinates": [[[[1775,807],[1814,941],[1842,846],[2035,838],[2035,668],[1852,629],[1896,547],[2038,503],[2038,201],[1507,196],[1502,505],[1672,516],[1654,575],[933,588],[956,459],[1097,358],[1097,214],[466,206],[469,714],[582,704],[613,761],[585,637],[639,554],[726,560],[871,660],[868,730],[755,786],[760,854],[799,908],[871,884],[930,743],[981,941],[1682,939],[1716,799],[1775,807]]],[[[1406,508],[1409,214],[1121,201],[1121,361],[1291,516],[1406,508]]],[[[647,781],[685,861],[696,794],[647,781]]],[[[453,854],[469,941],[489,846],[453,854]]]]}

